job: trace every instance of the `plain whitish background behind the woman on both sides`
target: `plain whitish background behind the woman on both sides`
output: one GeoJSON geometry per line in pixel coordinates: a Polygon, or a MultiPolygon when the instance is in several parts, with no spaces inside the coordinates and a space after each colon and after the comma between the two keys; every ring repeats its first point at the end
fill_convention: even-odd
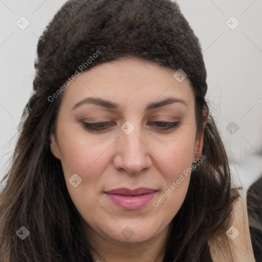
{"type": "MultiPolygon", "coordinates": [[[[0,179],[10,164],[16,128],[32,91],[38,37],[65,2],[0,0],[0,179]],[[30,21],[25,30],[16,25],[21,16],[30,21]]],[[[210,111],[233,175],[246,190],[262,174],[262,0],[177,3],[200,39],[210,111]],[[231,16],[240,23],[234,30],[226,24],[236,25],[231,16]],[[239,126],[235,134],[226,128],[231,121],[239,126]]]]}

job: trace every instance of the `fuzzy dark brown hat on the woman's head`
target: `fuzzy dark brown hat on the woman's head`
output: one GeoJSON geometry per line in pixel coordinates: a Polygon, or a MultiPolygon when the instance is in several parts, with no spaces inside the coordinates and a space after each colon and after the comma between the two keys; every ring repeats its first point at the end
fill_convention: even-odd
{"type": "Polygon", "coordinates": [[[48,77],[36,77],[34,89],[48,85],[54,93],[96,50],[101,55],[84,70],[133,55],[182,69],[200,98],[207,92],[199,39],[178,4],[169,0],[68,1],[38,42],[36,69],[48,77]]]}

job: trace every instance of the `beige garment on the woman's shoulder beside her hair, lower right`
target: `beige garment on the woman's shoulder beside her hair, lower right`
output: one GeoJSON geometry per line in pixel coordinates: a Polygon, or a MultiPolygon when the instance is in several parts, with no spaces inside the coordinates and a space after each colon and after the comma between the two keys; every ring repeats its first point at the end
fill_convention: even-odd
{"type": "Polygon", "coordinates": [[[245,195],[235,202],[233,224],[219,239],[220,244],[209,242],[214,262],[255,262],[249,233],[245,195]]]}

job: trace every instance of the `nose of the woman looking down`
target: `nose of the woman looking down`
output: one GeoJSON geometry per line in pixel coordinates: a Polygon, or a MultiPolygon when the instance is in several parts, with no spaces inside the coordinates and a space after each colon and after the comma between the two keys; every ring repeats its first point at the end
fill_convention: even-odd
{"type": "Polygon", "coordinates": [[[116,141],[114,167],[121,172],[141,174],[152,165],[150,159],[152,152],[139,127],[136,126],[130,134],[127,134],[120,130],[120,135],[116,141]]]}

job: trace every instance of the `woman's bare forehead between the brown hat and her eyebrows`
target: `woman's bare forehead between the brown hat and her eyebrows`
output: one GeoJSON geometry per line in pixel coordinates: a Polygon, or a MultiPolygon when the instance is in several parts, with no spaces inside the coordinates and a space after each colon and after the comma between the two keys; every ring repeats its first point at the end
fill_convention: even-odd
{"type": "Polygon", "coordinates": [[[193,106],[190,81],[179,82],[173,77],[175,72],[134,57],[102,63],[72,81],[63,92],[62,104],[73,107],[84,98],[96,97],[115,101],[123,110],[172,96],[193,106]]]}

